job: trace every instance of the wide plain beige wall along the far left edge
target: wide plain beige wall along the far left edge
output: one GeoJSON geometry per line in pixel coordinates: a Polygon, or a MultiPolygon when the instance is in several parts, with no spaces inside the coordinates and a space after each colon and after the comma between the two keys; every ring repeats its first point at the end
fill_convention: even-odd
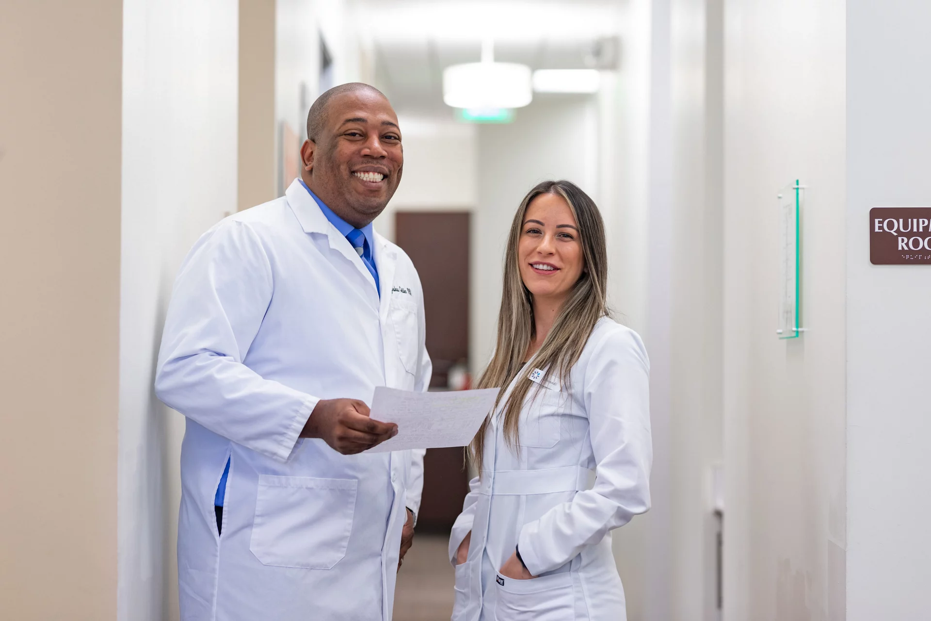
{"type": "Polygon", "coordinates": [[[0,19],[0,601],[112,619],[122,3],[0,19]],[[93,88],[88,88],[93,85],[93,88]]]}

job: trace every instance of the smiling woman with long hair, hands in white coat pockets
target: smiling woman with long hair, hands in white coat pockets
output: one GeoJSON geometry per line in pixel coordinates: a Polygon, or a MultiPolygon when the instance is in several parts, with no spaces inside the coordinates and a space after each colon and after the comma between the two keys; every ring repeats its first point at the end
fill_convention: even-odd
{"type": "Polygon", "coordinates": [[[608,317],[598,207],[539,183],[507,240],[500,388],[469,447],[479,476],[452,528],[453,621],[623,621],[611,531],[650,507],[649,361],[608,317]]]}

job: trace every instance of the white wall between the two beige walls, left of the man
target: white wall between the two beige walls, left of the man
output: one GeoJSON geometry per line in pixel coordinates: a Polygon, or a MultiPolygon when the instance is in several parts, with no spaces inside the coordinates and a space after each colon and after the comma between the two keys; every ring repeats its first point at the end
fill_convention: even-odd
{"type": "Polygon", "coordinates": [[[152,383],[184,254],[236,210],[236,0],[125,0],[118,614],[178,618],[183,419],[152,383]]]}

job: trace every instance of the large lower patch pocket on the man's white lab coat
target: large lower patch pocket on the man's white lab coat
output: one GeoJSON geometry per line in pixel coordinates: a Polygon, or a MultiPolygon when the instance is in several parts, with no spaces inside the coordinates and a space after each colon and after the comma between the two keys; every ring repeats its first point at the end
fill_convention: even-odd
{"type": "Polygon", "coordinates": [[[343,559],[356,479],[259,476],[249,548],[263,565],[331,569],[343,559]]]}

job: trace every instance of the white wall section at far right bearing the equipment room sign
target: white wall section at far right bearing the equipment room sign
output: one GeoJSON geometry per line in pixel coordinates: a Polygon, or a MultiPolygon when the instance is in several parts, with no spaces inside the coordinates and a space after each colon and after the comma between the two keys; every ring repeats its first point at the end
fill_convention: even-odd
{"type": "Polygon", "coordinates": [[[873,207],[931,206],[931,5],[847,2],[847,618],[931,618],[931,266],[870,264],[873,207]]]}

